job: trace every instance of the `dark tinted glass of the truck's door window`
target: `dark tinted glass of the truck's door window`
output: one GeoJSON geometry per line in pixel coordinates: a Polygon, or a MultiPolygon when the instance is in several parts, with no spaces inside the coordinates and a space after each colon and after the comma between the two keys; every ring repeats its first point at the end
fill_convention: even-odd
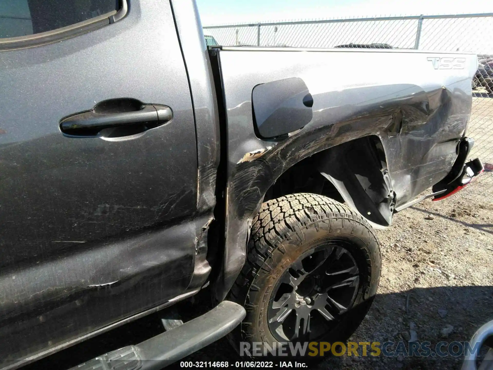
{"type": "Polygon", "coordinates": [[[120,7],[120,0],[0,0],[0,39],[54,31],[120,7]]]}

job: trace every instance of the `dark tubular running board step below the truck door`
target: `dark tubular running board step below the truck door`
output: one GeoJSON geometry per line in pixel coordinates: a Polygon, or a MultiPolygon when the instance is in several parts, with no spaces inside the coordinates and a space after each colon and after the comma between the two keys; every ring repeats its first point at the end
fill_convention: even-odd
{"type": "Polygon", "coordinates": [[[98,356],[70,370],[159,370],[222,338],[245,315],[245,308],[225,300],[168,332],[98,356]]]}

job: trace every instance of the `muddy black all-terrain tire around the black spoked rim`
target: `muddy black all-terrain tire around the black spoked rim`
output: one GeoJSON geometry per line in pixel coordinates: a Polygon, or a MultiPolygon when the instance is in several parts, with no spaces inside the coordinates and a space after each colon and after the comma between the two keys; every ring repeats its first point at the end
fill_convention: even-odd
{"type": "Polygon", "coordinates": [[[374,230],[346,205],[324,196],[299,193],[262,204],[253,219],[246,263],[229,299],[246,308],[246,317],[229,339],[240,342],[279,341],[267,322],[270,296],[290,264],[317,243],[331,238],[352,241],[352,256],[359,267],[359,289],[352,308],[340,318],[336,330],[317,340],[346,341],[359,326],[377,292],[381,255],[374,230]]]}

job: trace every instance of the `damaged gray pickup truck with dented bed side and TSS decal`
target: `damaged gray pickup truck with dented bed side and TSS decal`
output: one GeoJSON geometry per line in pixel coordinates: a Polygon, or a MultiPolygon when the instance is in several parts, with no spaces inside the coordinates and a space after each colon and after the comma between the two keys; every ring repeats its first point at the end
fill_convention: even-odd
{"type": "Polygon", "coordinates": [[[482,169],[473,54],[208,47],[192,0],[0,15],[3,370],[192,296],[197,317],[77,369],[159,369],[227,333],[345,340],[374,228],[482,169]]]}

